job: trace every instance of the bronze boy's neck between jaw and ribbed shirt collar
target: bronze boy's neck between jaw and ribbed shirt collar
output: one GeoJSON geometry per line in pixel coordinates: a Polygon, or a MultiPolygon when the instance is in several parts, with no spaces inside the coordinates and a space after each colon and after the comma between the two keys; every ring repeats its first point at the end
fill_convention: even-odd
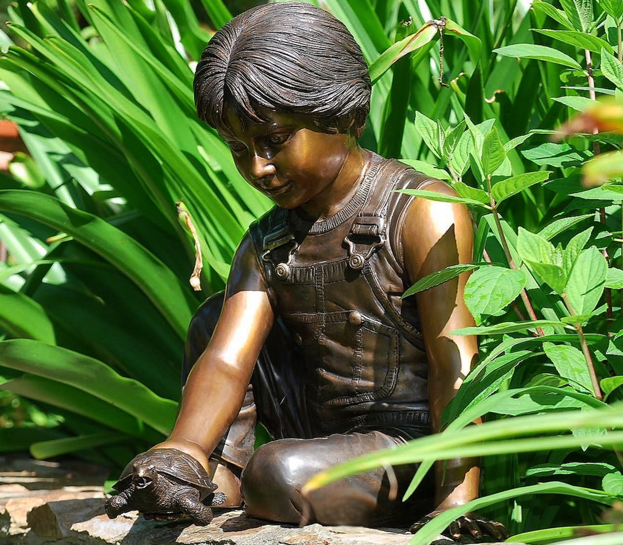
{"type": "Polygon", "coordinates": [[[335,181],[300,206],[305,216],[314,220],[324,219],[346,206],[358,190],[368,161],[369,153],[354,143],[335,181]]]}

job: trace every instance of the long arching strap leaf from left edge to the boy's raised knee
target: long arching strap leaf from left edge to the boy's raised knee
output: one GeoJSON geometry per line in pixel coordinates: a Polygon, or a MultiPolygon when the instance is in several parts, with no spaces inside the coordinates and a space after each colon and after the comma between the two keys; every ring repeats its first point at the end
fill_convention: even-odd
{"type": "Polygon", "coordinates": [[[50,225],[101,255],[145,292],[181,338],[186,336],[196,300],[171,269],[132,237],[97,216],[36,192],[0,191],[0,210],[50,225]]]}

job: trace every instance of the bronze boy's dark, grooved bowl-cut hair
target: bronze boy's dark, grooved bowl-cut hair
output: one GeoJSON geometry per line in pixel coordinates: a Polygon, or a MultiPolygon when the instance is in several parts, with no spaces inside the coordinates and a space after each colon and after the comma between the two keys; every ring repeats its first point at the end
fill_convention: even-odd
{"type": "Polygon", "coordinates": [[[327,133],[361,136],[371,82],[359,45],[328,12],[303,2],[250,9],[228,22],[197,64],[197,116],[227,128],[226,105],[241,121],[264,111],[310,116],[327,133]]]}

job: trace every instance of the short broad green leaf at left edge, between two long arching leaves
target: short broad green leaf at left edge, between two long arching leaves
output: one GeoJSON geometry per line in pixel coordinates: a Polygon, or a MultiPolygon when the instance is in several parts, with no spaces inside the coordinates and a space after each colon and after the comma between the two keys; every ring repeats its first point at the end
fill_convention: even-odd
{"type": "Polygon", "coordinates": [[[56,344],[54,327],[41,305],[23,293],[1,284],[0,329],[15,337],[56,344]]]}

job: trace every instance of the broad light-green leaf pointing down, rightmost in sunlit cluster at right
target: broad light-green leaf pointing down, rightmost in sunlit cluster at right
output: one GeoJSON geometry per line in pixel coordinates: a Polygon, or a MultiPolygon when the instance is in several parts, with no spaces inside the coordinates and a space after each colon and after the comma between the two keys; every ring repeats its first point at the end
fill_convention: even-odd
{"type": "Polygon", "coordinates": [[[604,291],[607,269],[606,258],[596,247],[579,255],[564,288],[572,314],[583,315],[594,310],[604,291]]]}

